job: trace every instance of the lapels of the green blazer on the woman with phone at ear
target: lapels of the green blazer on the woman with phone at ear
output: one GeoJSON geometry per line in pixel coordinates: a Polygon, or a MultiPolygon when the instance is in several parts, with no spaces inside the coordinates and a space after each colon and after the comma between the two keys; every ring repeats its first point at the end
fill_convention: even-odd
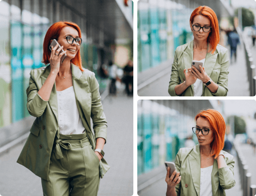
{"type": "MultiPolygon", "coordinates": [[[[91,127],[89,124],[91,123],[90,121],[90,113],[91,113],[91,92],[90,92],[90,87],[87,82],[87,79],[81,79],[82,75],[84,72],[78,68],[78,66],[74,65],[71,63],[71,70],[72,70],[72,83],[73,83],[73,88],[76,96],[76,105],[78,107],[78,111],[80,114],[81,119],[84,118],[87,121],[87,125],[91,131],[91,127]],[[83,115],[84,114],[84,115],[83,115]],[[88,123],[89,122],[89,123],[88,123]]],[[[46,78],[50,74],[51,71],[51,66],[48,65],[46,66],[46,69],[44,73],[41,75],[41,80],[42,80],[42,85],[46,81],[46,78]]],[[[53,114],[55,115],[56,121],[58,122],[58,103],[57,103],[57,90],[56,90],[56,83],[54,82],[53,89],[51,91],[51,96],[49,98],[49,105],[53,111],[53,114]]],[[[85,125],[84,125],[85,126],[85,125]]],[[[59,128],[58,128],[59,130],[59,128]]],[[[57,134],[59,138],[59,134],[57,134]]]]}

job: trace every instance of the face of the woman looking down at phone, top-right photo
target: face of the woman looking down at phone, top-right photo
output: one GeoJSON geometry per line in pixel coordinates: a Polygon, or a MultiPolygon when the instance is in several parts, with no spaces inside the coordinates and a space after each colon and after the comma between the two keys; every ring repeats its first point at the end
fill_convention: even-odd
{"type": "MultiPolygon", "coordinates": [[[[194,21],[193,21],[193,25],[198,25],[198,26],[211,26],[210,24],[210,20],[203,16],[203,15],[196,15],[194,17],[194,21]]],[[[209,32],[204,32],[203,31],[203,28],[201,28],[199,31],[195,31],[193,30],[192,28],[192,23],[190,22],[190,28],[192,29],[192,32],[193,32],[193,36],[194,36],[194,39],[201,42],[201,41],[207,41],[207,38],[210,34],[210,32],[212,31],[212,28],[210,28],[210,31],[209,32]]],[[[195,27],[195,26],[194,26],[195,27]]]]}

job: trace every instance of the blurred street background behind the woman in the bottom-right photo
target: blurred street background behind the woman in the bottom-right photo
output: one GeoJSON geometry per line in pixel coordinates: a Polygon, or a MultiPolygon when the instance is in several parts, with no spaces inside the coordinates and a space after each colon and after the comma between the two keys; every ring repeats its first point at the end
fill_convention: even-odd
{"type": "Polygon", "coordinates": [[[254,196],[244,191],[251,185],[256,187],[255,100],[139,100],[137,107],[139,196],[165,195],[164,162],[174,162],[180,148],[198,144],[192,127],[196,125],[195,116],[202,109],[216,109],[226,123],[223,150],[235,160],[235,186],[225,190],[226,195],[254,196]],[[244,173],[240,173],[242,171],[244,173]],[[244,182],[247,182],[245,188],[244,182]]]}

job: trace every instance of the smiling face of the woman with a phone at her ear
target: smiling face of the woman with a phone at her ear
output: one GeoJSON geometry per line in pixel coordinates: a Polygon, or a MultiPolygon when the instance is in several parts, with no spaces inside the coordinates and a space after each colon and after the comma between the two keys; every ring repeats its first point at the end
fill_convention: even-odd
{"type": "Polygon", "coordinates": [[[61,34],[57,41],[58,41],[59,45],[63,46],[63,50],[66,51],[65,61],[71,60],[72,58],[74,58],[76,56],[76,53],[80,49],[80,45],[76,44],[76,40],[74,40],[72,44],[68,43],[68,41],[66,40],[67,35],[70,35],[75,39],[79,37],[78,31],[75,28],[73,28],[72,26],[65,26],[61,30],[61,34]],[[68,49],[74,49],[75,52],[69,51],[68,49]]]}

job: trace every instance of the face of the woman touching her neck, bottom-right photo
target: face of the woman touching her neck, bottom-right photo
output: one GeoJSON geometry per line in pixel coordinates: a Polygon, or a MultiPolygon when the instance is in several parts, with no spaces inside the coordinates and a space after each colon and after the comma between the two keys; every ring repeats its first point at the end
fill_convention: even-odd
{"type": "MultiPolygon", "coordinates": [[[[210,129],[210,123],[206,119],[199,117],[196,121],[196,127],[199,129],[202,129],[202,128],[210,129]]],[[[196,136],[197,136],[199,145],[201,146],[210,145],[210,143],[213,141],[213,133],[211,129],[209,130],[209,133],[207,135],[203,135],[202,132],[200,131],[198,134],[196,134],[196,136]],[[200,141],[199,139],[203,141],[200,141]]]]}

